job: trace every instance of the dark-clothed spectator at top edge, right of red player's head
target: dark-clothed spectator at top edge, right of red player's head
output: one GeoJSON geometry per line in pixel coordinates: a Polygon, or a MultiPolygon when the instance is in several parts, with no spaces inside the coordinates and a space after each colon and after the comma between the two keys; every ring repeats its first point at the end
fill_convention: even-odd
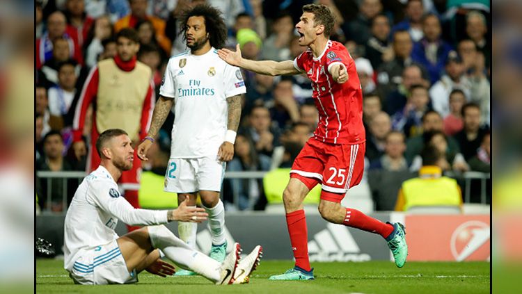
{"type": "Polygon", "coordinates": [[[382,12],[381,0],[363,0],[359,6],[357,17],[348,23],[351,40],[357,44],[366,44],[371,37],[372,19],[382,12]]]}

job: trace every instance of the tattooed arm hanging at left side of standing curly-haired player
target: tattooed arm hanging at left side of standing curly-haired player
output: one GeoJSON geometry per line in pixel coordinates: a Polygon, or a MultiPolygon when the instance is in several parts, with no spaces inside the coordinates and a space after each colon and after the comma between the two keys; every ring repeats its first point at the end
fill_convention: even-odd
{"type": "MultiPolygon", "coordinates": [[[[156,137],[159,129],[167,118],[168,112],[171,111],[173,104],[174,99],[159,96],[156,106],[154,107],[154,113],[152,113],[152,122],[150,122],[147,137],[156,137]]],[[[142,161],[148,161],[147,152],[150,146],[152,146],[151,140],[143,140],[140,145],[138,145],[136,152],[142,161]]]]}

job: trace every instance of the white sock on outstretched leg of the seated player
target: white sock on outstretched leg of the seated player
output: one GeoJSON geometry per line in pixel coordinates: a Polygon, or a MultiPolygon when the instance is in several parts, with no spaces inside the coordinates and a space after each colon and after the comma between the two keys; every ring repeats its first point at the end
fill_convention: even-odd
{"type": "Polygon", "coordinates": [[[148,232],[152,247],[160,249],[181,268],[192,270],[214,283],[221,279],[221,263],[193,250],[163,224],[148,227],[148,232]]]}

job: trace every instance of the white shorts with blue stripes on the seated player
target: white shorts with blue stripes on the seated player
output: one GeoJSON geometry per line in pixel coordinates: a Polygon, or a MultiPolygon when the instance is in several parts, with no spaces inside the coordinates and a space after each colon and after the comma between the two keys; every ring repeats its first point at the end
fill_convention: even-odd
{"type": "Polygon", "coordinates": [[[138,281],[136,270],[127,270],[116,239],[82,254],[74,261],[69,276],[74,283],[84,285],[132,284],[138,281]]]}

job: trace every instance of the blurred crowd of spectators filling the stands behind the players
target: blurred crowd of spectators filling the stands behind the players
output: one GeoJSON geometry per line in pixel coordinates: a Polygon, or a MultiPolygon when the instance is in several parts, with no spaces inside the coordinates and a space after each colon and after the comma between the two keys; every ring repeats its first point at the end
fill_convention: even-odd
{"type": "MultiPolygon", "coordinates": [[[[88,150],[71,148],[74,112],[90,67],[116,55],[114,35],[120,29],[130,26],[139,33],[138,60],[154,73],[158,94],[168,58],[187,50],[177,33],[184,9],[198,3],[219,8],[228,25],[227,47],[239,44],[244,58],[289,60],[306,49],[298,44],[294,24],[301,7],[313,2],[335,14],[331,40],[345,44],[361,80],[365,180],[375,209],[393,210],[400,183],[416,177],[427,146],[440,152],[445,172],[489,173],[490,3],[466,0],[37,0],[37,170],[85,170],[88,150]]],[[[310,81],[306,75],[244,71],[243,76],[247,93],[227,170],[290,168],[319,118],[310,81]]],[[[509,108],[505,111],[509,115],[509,108]]],[[[161,160],[144,163],[143,170],[164,174],[172,122],[173,113],[160,133],[157,154],[151,154],[161,160]]],[[[84,129],[86,141],[89,133],[84,129]]],[[[47,183],[37,182],[38,204],[61,211],[61,183],[51,189],[57,201],[52,208],[47,207],[47,183]]],[[[237,201],[233,195],[239,195],[236,208],[264,209],[263,186],[262,179],[226,179],[223,199],[232,204],[237,201]]],[[[68,191],[71,197],[74,187],[68,191]]]]}

